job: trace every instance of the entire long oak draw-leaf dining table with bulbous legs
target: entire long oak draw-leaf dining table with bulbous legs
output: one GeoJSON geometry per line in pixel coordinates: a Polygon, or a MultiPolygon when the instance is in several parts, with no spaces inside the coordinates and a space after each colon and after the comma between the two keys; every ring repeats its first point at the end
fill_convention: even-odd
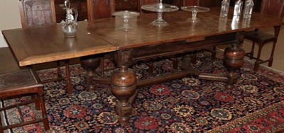
{"type": "Polygon", "coordinates": [[[244,63],[244,50],[240,45],[244,33],[263,27],[280,29],[283,19],[273,18],[261,13],[253,13],[251,19],[234,18],[229,12],[227,18],[219,17],[219,8],[198,13],[198,21],[187,21],[190,12],[174,11],[163,13],[163,19],[169,23],[164,27],[151,25],[157,18],[156,13],[144,13],[130,18],[133,30],[122,31],[122,18],[102,18],[95,21],[78,22],[76,37],[64,37],[61,25],[46,25],[30,29],[3,30],[2,33],[13,51],[19,66],[29,66],[62,59],[81,58],[81,65],[87,70],[87,86],[95,91],[94,81],[111,84],[111,92],[118,98],[116,112],[119,122],[127,124],[133,111],[132,103],[138,94],[136,88],[161,81],[177,79],[194,74],[200,79],[226,82],[230,90],[236,87],[237,70],[244,63]],[[140,60],[184,54],[218,45],[231,44],[224,51],[226,75],[203,74],[192,69],[190,56],[185,54],[182,70],[172,74],[157,76],[154,79],[137,80],[129,66],[140,60]],[[113,54],[116,67],[109,78],[94,77],[105,54],[113,54]],[[95,80],[94,80],[95,79],[95,80]]]}

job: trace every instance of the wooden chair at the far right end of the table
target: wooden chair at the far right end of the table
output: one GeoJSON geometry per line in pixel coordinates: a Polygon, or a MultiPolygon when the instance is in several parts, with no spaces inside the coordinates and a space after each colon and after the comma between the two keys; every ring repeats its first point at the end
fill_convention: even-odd
{"type": "MultiPolygon", "coordinates": [[[[276,16],[283,18],[284,15],[284,1],[283,0],[263,0],[261,4],[261,13],[266,14],[268,16],[276,16]]],[[[244,35],[244,38],[247,40],[251,40],[252,47],[251,52],[246,53],[246,57],[249,57],[250,59],[256,59],[256,62],[254,63],[253,71],[258,71],[259,64],[263,64],[265,62],[268,62],[268,67],[272,66],[273,63],[273,54],[275,50],[275,45],[277,42],[278,34],[280,31],[280,26],[274,27],[274,35],[263,33],[259,31],[258,29],[248,32],[244,35]],[[256,57],[253,56],[254,54],[254,47],[258,44],[258,54],[256,57]],[[261,58],[261,50],[264,45],[273,45],[271,50],[271,57],[269,59],[263,60],[261,58]]]]}

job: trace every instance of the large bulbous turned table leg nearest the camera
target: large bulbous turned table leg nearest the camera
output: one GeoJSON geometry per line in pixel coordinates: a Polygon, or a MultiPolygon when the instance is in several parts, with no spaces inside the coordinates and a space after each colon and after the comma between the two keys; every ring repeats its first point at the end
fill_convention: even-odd
{"type": "Polygon", "coordinates": [[[116,112],[119,114],[119,122],[126,125],[132,114],[132,105],[129,102],[136,93],[136,74],[132,69],[120,67],[111,74],[111,92],[119,99],[116,103],[116,112]]]}

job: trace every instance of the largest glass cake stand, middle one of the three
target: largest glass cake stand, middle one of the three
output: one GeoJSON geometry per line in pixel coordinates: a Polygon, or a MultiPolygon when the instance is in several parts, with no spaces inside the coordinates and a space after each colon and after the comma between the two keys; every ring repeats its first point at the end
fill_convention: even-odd
{"type": "Polygon", "coordinates": [[[178,11],[179,9],[178,6],[175,5],[163,4],[162,0],[160,0],[160,3],[158,4],[144,5],[141,6],[141,8],[146,11],[155,11],[158,13],[158,18],[155,21],[151,22],[151,25],[156,25],[156,26],[168,25],[168,22],[164,21],[162,18],[163,12],[178,11]]]}

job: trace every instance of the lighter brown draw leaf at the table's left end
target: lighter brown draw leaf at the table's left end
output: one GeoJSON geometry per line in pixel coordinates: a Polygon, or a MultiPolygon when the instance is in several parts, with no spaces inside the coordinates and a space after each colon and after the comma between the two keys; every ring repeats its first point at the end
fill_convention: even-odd
{"type": "MultiPolygon", "coordinates": [[[[87,22],[81,21],[78,25],[87,25],[87,22]]],[[[80,27],[77,30],[76,37],[72,38],[66,38],[63,35],[61,25],[6,30],[2,31],[2,33],[5,35],[8,43],[12,44],[9,47],[13,50],[20,67],[85,57],[93,54],[96,54],[94,55],[95,57],[100,57],[101,53],[116,50],[116,47],[111,45],[111,43],[103,40],[86,28],[80,27]],[[37,40],[34,39],[34,35],[37,35],[37,40]],[[31,45],[31,42],[33,45],[31,45]]],[[[87,73],[87,75],[92,74],[87,73]]],[[[87,83],[91,84],[92,81],[87,81],[87,83]]]]}

